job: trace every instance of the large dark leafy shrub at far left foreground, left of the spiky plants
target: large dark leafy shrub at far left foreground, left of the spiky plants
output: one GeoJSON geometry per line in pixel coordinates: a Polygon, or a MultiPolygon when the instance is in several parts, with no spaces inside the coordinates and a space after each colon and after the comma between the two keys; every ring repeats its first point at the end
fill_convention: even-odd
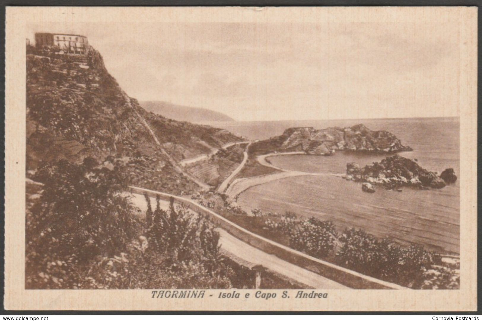
{"type": "MultiPolygon", "coordinates": [[[[87,163],[91,163],[87,161],[87,163]]],[[[26,287],[74,288],[96,256],[113,256],[139,233],[117,169],[68,161],[44,165],[39,201],[27,210],[26,287]]]]}

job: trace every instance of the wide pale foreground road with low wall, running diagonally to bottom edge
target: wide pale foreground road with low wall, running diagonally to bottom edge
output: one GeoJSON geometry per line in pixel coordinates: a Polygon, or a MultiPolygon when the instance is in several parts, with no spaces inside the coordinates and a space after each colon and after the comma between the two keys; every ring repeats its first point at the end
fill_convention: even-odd
{"type": "MultiPolygon", "coordinates": [[[[220,233],[221,249],[241,258],[252,265],[262,265],[269,270],[275,271],[285,277],[306,284],[316,289],[344,289],[344,288],[372,288],[372,289],[406,289],[400,285],[363,275],[359,272],[339,267],[333,263],[312,257],[308,254],[293,250],[285,245],[269,240],[255,234],[219,215],[198,202],[182,196],[158,192],[141,187],[130,186],[131,193],[137,194],[137,200],[142,203],[143,194],[155,199],[159,195],[161,200],[169,201],[171,198],[176,203],[186,205],[189,210],[211,217],[218,224],[220,233]],[[244,240],[244,241],[243,241],[244,240]],[[279,255],[282,254],[281,259],[279,255]],[[340,282],[312,272],[308,268],[321,266],[323,273],[328,273],[340,282]],[[347,285],[341,283],[348,283],[347,285]]],[[[163,204],[161,204],[162,206],[163,204]]],[[[164,204],[165,206],[165,204],[164,204]]]]}

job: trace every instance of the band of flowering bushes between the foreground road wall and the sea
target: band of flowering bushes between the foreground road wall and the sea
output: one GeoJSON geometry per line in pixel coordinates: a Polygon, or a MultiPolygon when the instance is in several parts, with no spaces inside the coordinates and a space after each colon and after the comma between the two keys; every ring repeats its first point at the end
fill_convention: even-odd
{"type": "Polygon", "coordinates": [[[300,252],[380,280],[413,289],[458,289],[459,263],[444,262],[420,246],[378,239],[362,229],[338,231],[331,221],[263,213],[229,219],[253,232],[300,252]]]}

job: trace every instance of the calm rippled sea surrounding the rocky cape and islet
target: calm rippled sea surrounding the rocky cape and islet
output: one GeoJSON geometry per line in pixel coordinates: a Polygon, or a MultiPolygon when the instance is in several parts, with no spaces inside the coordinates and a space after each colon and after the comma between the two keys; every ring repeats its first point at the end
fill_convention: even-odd
{"type": "MultiPolygon", "coordinates": [[[[399,153],[417,159],[418,164],[439,174],[454,168],[459,176],[458,118],[218,122],[234,134],[250,139],[266,139],[297,126],[346,127],[358,123],[371,130],[387,130],[414,150],[399,153]]],[[[270,158],[275,166],[306,171],[343,174],[347,162],[360,165],[383,159],[382,155],[337,152],[334,156],[292,155],[270,158]]],[[[245,209],[330,219],[340,227],[361,227],[378,237],[389,237],[401,244],[416,243],[428,249],[459,253],[459,181],[442,189],[402,192],[376,188],[362,192],[361,184],[338,177],[297,176],[252,187],[242,193],[238,203],[245,209]]]]}

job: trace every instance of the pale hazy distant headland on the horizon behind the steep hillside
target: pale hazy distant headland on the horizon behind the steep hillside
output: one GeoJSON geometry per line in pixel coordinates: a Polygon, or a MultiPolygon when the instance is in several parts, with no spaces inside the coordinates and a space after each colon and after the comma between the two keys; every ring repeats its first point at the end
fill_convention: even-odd
{"type": "Polygon", "coordinates": [[[152,111],[155,114],[164,117],[189,121],[194,123],[203,123],[207,121],[234,121],[231,117],[206,108],[187,107],[176,105],[164,101],[141,101],[141,107],[147,111],[152,111]]]}

